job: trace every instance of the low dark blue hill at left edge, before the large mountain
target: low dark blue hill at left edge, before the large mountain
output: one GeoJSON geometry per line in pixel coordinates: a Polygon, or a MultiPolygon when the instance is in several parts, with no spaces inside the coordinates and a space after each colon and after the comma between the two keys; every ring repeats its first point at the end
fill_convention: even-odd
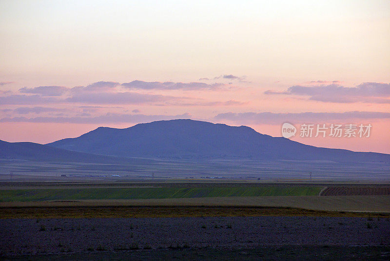
{"type": "Polygon", "coordinates": [[[97,163],[128,161],[128,159],[69,151],[33,142],[6,142],[1,140],[0,159],[97,163]]]}

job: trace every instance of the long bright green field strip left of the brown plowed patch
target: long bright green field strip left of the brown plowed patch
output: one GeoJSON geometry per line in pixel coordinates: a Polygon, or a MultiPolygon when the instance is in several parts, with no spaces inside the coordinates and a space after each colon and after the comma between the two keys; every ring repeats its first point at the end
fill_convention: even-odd
{"type": "Polygon", "coordinates": [[[0,190],[0,202],[57,200],[140,200],[212,197],[317,196],[321,186],[83,188],[0,190]]]}

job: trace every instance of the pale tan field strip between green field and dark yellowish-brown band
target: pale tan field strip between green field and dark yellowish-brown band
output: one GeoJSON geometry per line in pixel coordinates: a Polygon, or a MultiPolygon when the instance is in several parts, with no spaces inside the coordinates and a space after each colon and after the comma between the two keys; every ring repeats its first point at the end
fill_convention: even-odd
{"type": "MultiPolygon", "coordinates": [[[[327,197],[276,196],[276,197],[215,197],[215,198],[192,198],[192,199],[181,198],[181,199],[150,199],[150,200],[1,202],[0,217],[7,218],[5,212],[3,212],[4,208],[12,208],[13,209],[12,211],[16,213],[18,208],[22,209],[24,207],[37,208],[36,212],[39,212],[39,211],[43,211],[43,208],[40,209],[40,207],[50,208],[50,207],[122,207],[122,206],[123,207],[133,207],[133,206],[139,206],[139,207],[142,206],[292,207],[292,208],[303,208],[303,209],[319,210],[319,211],[357,211],[357,212],[371,212],[371,213],[372,212],[390,213],[390,196],[327,196],[327,197]]],[[[97,213],[96,215],[99,216],[100,214],[97,213]]],[[[188,213],[187,215],[191,215],[191,213],[188,213]]],[[[23,217],[28,217],[28,215],[26,214],[23,217]]],[[[48,217],[52,217],[52,216],[48,216],[48,217]]]]}

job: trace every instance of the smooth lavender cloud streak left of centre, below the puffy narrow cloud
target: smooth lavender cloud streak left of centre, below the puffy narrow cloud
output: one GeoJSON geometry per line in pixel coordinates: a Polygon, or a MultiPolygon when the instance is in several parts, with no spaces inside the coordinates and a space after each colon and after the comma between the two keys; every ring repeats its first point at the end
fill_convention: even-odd
{"type": "Polygon", "coordinates": [[[141,104],[175,100],[176,97],[155,94],[140,94],[135,92],[116,93],[79,93],[65,99],[68,102],[98,103],[98,104],[141,104]]]}

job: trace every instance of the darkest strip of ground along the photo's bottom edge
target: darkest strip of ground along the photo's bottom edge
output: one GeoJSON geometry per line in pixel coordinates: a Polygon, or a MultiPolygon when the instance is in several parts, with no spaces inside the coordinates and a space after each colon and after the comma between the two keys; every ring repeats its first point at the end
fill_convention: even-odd
{"type": "Polygon", "coordinates": [[[388,261],[390,246],[257,246],[255,248],[168,248],[143,250],[67,252],[41,255],[11,256],[12,261],[70,261],[70,260],[379,260],[388,261]]]}

